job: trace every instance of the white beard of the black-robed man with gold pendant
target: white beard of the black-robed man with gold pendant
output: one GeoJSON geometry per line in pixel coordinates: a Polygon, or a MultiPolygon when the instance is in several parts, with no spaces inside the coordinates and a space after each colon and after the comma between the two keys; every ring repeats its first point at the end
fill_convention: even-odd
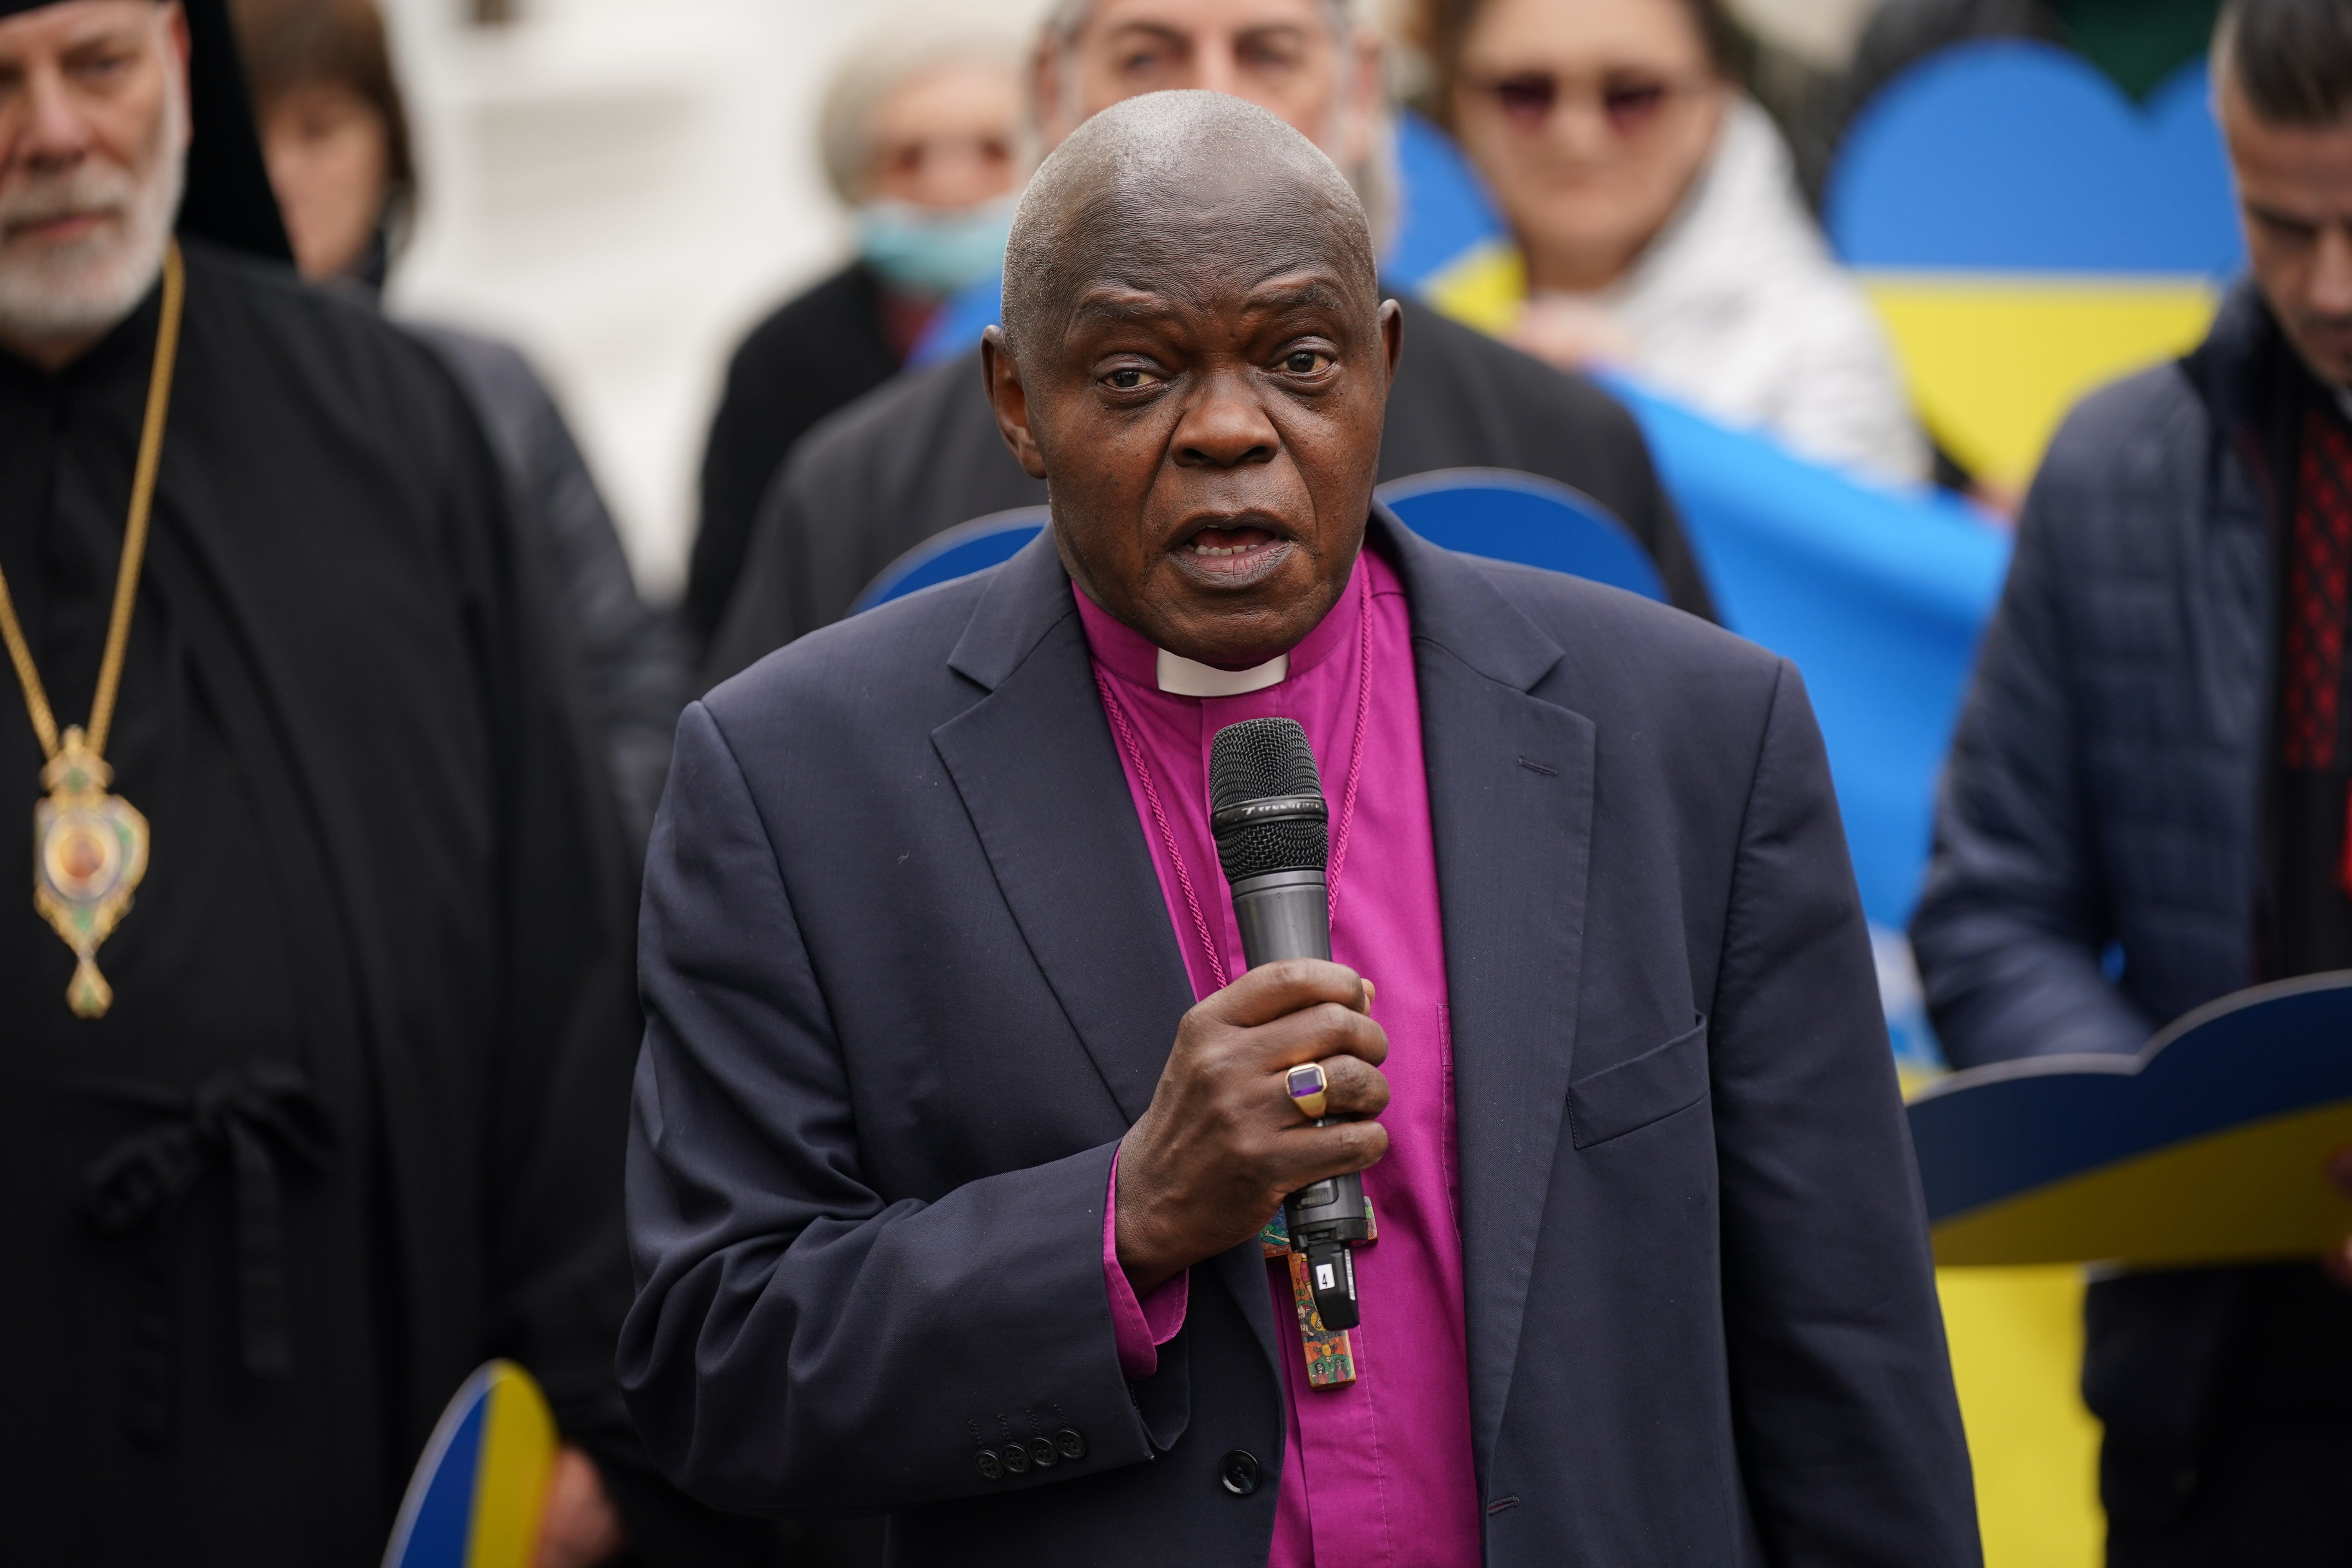
{"type": "Polygon", "coordinates": [[[0,331],[14,339],[78,339],[108,331],[155,287],[188,176],[188,103],[174,82],[139,167],[82,160],[66,174],[0,190],[0,331]],[[26,221],[68,212],[108,214],[68,244],[12,240],[26,221]]]}

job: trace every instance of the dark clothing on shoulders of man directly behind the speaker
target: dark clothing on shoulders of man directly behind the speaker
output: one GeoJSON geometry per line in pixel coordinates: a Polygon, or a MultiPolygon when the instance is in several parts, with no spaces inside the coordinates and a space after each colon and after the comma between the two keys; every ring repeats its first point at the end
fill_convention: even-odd
{"type": "MultiPolygon", "coordinates": [[[[1388,393],[1381,480],[1517,468],[1585,491],[1658,562],[1668,597],[1712,618],[1705,578],[1632,416],[1583,376],[1404,299],[1404,362],[1388,393]]],[[[1044,503],[1004,449],[978,350],[868,393],[802,437],[760,503],[750,557],[710,644],[715,684],[849,614],[924,538],[1044,503]]]]}

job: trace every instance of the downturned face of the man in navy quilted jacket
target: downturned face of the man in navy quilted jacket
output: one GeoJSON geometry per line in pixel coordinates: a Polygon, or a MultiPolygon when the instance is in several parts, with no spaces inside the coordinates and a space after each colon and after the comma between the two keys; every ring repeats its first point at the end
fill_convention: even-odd
{"type": "Polygon", "coordinates": [[[2218,92],[2253,280],[2321,381],[2352,383],[2352,118],[2270,125],[2230,73],[2218,92]]]}

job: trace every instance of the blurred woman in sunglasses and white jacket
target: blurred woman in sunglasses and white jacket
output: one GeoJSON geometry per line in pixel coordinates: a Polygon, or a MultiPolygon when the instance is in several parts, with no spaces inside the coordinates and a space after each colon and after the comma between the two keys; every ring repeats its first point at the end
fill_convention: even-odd
{"type": "Polygon", "coordinates": [[[1613,364],[1795,451],[1924,480],[1929,449],[1722,0],[1416,0],[1435,108],[1519,242],[1510,339],[1613,364]]]}

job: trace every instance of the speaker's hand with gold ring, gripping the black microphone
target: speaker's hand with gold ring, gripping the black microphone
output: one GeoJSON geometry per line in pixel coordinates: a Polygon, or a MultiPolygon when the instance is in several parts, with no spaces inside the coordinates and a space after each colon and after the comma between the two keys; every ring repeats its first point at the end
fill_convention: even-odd
{"type": "Polygon", "coordinates": [[[1228,726],[1211,795],[1251,969],[1185,1013],[1150,1110],[1120,1145],[1120,1265],[1145,1293],[1251,1239],[1284,1199],[1315,1199],[1289,1206],[1291,1239],[1317,1286],[1329,1272],[1324,1324],[1348,1328],[1345,1246],[1364,1234],[1355,1173],[1388,1152],[1371,1121],[1388,1107],[1388,1034],[1369,1016],[1371,987],[1327,957],[1324,806],[1305,733],[1289,719],[1228,726]],[[1324,1077],[1322,1124],[1291,1093],[1291,1070],[1310,1065],[1324,1077]]]}

